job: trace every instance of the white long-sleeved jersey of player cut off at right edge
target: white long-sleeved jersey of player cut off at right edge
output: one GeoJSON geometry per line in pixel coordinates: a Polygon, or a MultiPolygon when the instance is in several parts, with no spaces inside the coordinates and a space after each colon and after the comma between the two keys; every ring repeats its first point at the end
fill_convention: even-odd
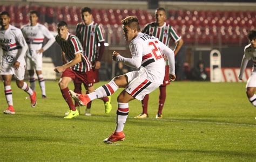
{"type": "Polygon", "coordinates": [[[248,44],[247,46],[245,46],[244,52],[245,54],[244,54],[244,57],[242,57],[241,69],[239,74],[240,79],[242,78],[242,75],[245,72],[248,61],[251,59],[253,61],[252,72],[256,72],[256,48],[253,48],[251,44],[248,44]]]}

